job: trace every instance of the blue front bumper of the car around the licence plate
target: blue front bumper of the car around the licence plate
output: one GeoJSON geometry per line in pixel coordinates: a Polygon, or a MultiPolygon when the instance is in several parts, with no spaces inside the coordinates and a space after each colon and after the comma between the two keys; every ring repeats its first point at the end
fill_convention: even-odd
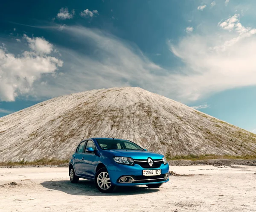
{"type": "Polygon", "coordinates": [[[142,168],[138,164],[134,164],[134,166],[128,166],[118,163],[113,163],[107,166],[108,174],[111,179],[111,183],[115,186],[137,186],[137,185],[147,185],[147,184],[155,184],[155,183],[166,183],[169,179],[164,179],[166,174],[169,174],[169,165],[162,164],[159,168],[142,168]],[[143,170],[148,169],[161,169],[162,174],[156,176],[143,176],[143,170]],[[134,178],[134,182],[132,183],[120,183],[119,180],[121,177],[131,176],[134,178]]]}

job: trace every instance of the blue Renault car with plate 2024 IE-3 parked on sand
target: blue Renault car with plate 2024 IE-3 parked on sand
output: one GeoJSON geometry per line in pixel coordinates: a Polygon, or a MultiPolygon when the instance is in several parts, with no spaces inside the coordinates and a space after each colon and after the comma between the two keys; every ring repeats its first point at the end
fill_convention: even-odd
{"type": "Polygon", "coordinates": [[[169,165],[162,154],[146,151],[123,139],[90,138],[79,143],[70,157],[71,183],[93,180],[100,192],[115,186],[158,188],[169,181],[169,165]]]}

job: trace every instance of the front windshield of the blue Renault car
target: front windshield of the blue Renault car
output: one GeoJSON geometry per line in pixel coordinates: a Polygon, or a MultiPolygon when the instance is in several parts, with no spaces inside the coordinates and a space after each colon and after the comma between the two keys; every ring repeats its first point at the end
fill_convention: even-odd
{"type": "Polygon", "coordinates": [[[126,150],[144,150],[134,142],[118,139],[97,139],[97,142],[103,150],[106,149],[126,149],[126,150]]]}

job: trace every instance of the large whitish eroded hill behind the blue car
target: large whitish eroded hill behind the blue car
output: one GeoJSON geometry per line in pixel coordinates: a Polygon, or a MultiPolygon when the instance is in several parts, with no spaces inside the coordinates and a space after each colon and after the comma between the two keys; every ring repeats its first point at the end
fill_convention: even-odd
{"type": "Polygon", "coordinates": [[[256,154],[256,135],[139,87],[60,96],[0,118],[0,162],[64,160],[81,139],[130,139],[167,156],[256,154]]]}

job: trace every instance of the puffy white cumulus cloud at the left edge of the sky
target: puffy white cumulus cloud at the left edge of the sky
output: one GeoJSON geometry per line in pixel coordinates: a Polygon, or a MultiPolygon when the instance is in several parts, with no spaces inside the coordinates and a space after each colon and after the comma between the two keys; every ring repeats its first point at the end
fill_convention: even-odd
{"type": "Polygon", "coordinates": [[[44,73],[53,73],[62,66],[62,61],[49,56],[52,44],[43,38],[24,35],[30,51],[14,55],[5,46],[0,49],[0,101],[14,101],[18,94],[32,90],[34,81],[44,73]]]}

